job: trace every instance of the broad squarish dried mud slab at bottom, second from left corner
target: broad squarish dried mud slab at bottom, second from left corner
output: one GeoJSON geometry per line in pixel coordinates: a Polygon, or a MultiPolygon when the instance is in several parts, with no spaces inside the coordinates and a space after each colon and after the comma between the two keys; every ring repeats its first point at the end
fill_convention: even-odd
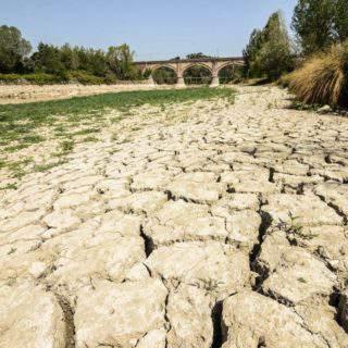
{"type": "Polygon", "coordinates": [[[76,347],[134,347],[147,333],[163,328],[166,295],[158,279],[99,281],[94,288],[82,289],[75,312],[76,347]]]}

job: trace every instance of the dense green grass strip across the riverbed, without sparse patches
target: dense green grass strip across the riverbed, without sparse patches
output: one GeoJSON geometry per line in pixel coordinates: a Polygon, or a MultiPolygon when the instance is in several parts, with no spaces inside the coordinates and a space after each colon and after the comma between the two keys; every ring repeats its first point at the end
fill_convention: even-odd
{"type": "MultiPolygon", "coordinates": [[[[58,116],[78,124],[88,119],[100,119],[105,109],[127,112],[130,108],[144,104],[160,105],[174,102],[195,101],[211,98],[227,98],[232,101],[235,91],[229,88],[188,88],[179,90],[142,90],[104,94],[89,97],[75,97],[65,100],[51,100],[23,104],[0,105],[0,134],[4,141],[42,141],[40,136],[30,134],[39,126],[58,126],[58,116]],[[24,135],[24,137],[23,137],[24,135]]],[[[22,142],[21,141],[21,142],[22,142]]]]}

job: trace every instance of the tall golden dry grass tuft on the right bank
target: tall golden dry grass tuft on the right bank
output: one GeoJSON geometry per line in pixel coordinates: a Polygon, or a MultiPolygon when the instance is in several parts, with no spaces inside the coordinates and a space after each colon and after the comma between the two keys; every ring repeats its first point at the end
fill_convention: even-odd
{"type": "Polygon", "coordinates": [[[310,58],[288,76],[288,86],[306,103],[348,107],[348,41],[310,58]]]}

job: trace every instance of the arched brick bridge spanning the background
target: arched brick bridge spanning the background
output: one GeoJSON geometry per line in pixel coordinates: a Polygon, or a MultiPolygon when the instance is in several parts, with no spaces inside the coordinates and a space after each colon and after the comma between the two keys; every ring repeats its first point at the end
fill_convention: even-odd
{"type": "Polygon", "coordinates": [[[202,66],[208,69],[212,75],[211,86],[219,86],[219,72],[226,66],[240,66],[244,65],[244,59],[240,57],[229,58],[199,58],[199,59],[177,59],[169,61],[144,61],[135,62],[135,65],[141,71],[150,70],[151,75],[149,77],[150,83],[154,83],[152,73],[160,67],[172,69],[177,76],[177,85],[185,86],[184,73],[191,66],[202,66]]]}

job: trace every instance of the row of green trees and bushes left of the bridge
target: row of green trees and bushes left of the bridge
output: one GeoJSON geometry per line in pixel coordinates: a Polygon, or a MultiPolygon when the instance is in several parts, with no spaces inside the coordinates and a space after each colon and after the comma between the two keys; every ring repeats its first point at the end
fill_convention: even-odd
{"type": "Polygon", "coordinates": [[[103,51],[40,42],[32,55],[30,51],[30,44],[17,28],[0,26],[0,80],[41,85],[71,80],[110,84],[116,79],[146,78],[133,64],[134,52],[125,44],[103,51]]]}

